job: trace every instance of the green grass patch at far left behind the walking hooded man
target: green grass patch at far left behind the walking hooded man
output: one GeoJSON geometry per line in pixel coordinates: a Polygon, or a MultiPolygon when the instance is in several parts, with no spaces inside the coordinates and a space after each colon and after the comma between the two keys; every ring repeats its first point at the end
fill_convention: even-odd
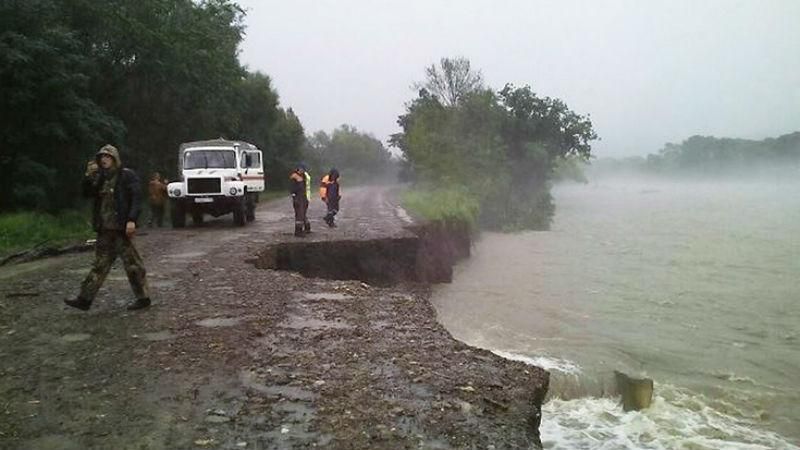
{"type": "Polygon", "coordinates": [[[89,214],[81,210],[57,215],[39,212],[0,214],[0,257],[35,247],[58,247],[91,238],[89,214]]]}

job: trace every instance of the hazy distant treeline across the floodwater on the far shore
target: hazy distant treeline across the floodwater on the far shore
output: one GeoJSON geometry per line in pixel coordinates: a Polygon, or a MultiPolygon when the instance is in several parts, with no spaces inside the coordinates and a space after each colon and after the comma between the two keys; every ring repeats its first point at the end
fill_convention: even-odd
{"type": "Polygon", "coordinates": [[[692,136],[646,157],[603,159],[593,172],[665,176],[746,176],[800,170],[800,132],[761,141],[692,136]]]}

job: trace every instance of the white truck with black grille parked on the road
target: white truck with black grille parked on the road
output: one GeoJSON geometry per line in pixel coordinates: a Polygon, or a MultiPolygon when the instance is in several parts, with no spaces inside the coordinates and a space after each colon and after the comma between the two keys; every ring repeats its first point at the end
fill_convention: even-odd
{"type": "Polygon", "coordinates": [[[261,150],[242,141],[215,139],[181,144],[178,152],[181,180],[167,185],[173,228],[186,226],[186,215],[195,225],[203,215],[233,213],[243,226],[255,220],[258,193],[264,191],[261,150]]]}

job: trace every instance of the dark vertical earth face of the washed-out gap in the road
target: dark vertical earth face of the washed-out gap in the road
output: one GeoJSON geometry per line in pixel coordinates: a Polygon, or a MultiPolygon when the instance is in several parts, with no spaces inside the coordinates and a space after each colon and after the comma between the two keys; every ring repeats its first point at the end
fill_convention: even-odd
{"type": "Polygon", "coordinates": [[[289,270],[307,277],[361,280],[376,285],[452,281],[453,265],[470,253],[469,228],[429,224],[408,230],[413,235],[280,243],[259,252],[254,263],[260,269],[289,270]]]}

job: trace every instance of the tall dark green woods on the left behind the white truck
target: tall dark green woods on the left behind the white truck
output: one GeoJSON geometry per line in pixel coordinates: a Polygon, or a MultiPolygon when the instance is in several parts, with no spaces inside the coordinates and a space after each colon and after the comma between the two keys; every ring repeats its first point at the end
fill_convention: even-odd
{"type": "Polygon", "coordinates": [[[243,17],[228,0],[0,2],[0,211],[75,205],[104,143],[175,177],[179,143],[242,139],[283,183],[304,131],[239,62],[243,17]]]}

